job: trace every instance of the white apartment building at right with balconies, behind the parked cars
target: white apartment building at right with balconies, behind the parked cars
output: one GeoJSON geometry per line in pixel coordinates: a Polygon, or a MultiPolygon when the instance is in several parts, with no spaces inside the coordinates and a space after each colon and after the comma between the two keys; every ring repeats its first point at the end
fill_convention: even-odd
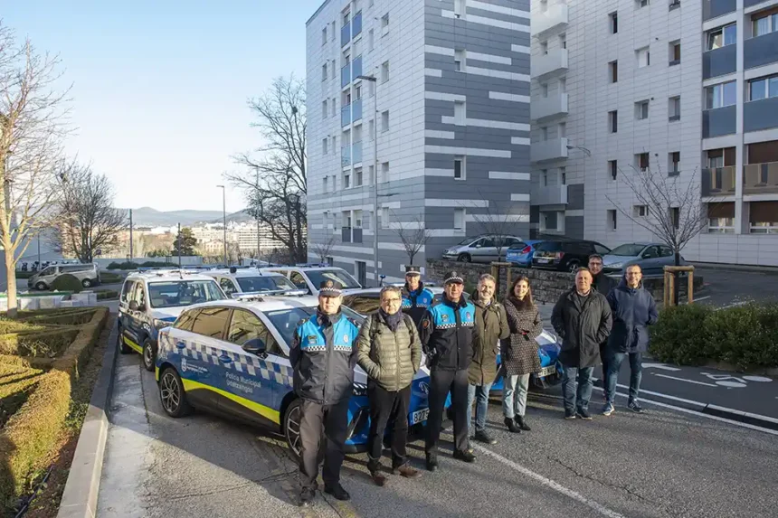
{"type": "Polygon", "coordinates": [[[650,165],[699,187],[686,259],[778,265],[778,0],[532,4],[534,233],[653,239],[617,210],[650,165]]]}

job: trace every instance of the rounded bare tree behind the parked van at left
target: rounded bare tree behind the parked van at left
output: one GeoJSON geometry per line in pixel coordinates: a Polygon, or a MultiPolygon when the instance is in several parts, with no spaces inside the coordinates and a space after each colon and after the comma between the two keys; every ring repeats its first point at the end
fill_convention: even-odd
{"type": "Polygon", "coordinates": [[[105,174],[77,159],[59,170],[62,195],[53,222],[54,245],[63,255],[90,263],[102,250],[119,247],[119,232],[128,223],[127,214],[113,208],[113,188],[105,174]]]}

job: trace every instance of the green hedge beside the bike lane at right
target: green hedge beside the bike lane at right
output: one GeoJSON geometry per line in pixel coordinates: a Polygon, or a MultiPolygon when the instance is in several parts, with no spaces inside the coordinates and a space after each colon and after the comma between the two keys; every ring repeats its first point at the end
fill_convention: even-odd
{"type": "Polygon", "coordinates": [[[662,309],[651,327],[650,353],[662,362],[778,367],[778,304],[716,309],[692,304],[662,309]]]}

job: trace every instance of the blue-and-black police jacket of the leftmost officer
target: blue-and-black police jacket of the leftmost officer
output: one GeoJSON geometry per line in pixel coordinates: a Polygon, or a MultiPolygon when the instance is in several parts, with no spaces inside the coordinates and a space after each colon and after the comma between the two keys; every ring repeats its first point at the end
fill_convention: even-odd
{"type": "Polygon", "coordinates": [[[358,331],[340,313],[317,312],[299,323],[289,347],[289,363],[300,398],[330,405],[351,397],[358,331]]]}

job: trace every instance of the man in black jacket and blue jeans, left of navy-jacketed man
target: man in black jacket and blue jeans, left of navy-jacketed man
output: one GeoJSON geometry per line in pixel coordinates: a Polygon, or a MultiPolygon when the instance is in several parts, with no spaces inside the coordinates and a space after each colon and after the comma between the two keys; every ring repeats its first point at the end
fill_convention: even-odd
{"type": "Polygon", "coordinates": [[[611,333],[611,306],[592,288],[592,273],[588,268],[578,270],[575,287],[559,298],[551,314],[551,325],[562,338],[559,361],[565,368],[562,375],[565,419],[575,419],[577,410],[579,418],[591,420],[592,372],[600,355],[600,344],[611,333]]]}

